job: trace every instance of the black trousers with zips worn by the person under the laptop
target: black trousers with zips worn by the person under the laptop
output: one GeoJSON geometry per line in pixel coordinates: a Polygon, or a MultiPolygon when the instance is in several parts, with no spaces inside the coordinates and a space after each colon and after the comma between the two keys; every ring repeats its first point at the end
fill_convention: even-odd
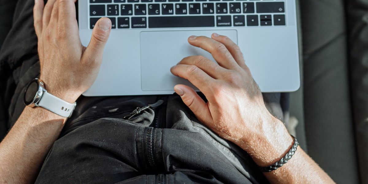
{"type": "MultiPolygon", "coordinates": [[[[31,0],[18,0],[0,52],[1,125],[24,109],[26,84],[39,75],[31,0]]],[[[287,118],[288,95],[264,94],[287,118]]],[[[81,97],[36,183],[267,183],[250,156],[204,127],[177,95],[81,97]],[[129,121],[126,114],[164,100],[129,121]]]]}

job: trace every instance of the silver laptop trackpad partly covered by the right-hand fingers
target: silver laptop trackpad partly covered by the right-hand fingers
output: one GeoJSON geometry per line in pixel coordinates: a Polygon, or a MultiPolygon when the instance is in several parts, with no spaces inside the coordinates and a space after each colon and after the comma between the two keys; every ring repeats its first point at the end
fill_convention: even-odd
{"type": "Polygon", "coordinates": [[[191,35],[210,38],[214,32],[226,35],[237,43],[236,30],[141,32],[142,90],[173,91],[177,84],[185,84],[194,88],[189,81],[171,74],[170,68],[184,57],[192,55],[202,55],[215,61],[210,53],[191,46],[187,41],[191,35]]]}

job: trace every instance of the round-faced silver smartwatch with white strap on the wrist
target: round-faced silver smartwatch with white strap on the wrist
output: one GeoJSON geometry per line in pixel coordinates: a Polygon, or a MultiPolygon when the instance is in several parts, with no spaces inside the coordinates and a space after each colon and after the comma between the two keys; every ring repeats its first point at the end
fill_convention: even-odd
{"type": "Polygon", "coordinates": [[[27,85],[24,93],[24,104],[29,107],[43,107],[59,116],[70,117],[77,103],[68,103],[47,93],[45,84],[35,78],[27,85]]]}

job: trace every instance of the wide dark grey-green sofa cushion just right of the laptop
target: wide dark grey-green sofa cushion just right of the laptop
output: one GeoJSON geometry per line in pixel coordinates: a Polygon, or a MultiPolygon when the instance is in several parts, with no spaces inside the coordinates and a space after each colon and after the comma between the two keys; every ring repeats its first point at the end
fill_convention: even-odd
{"type": "Polygon", "coordinates": [[[300,4],[308,154],[336,183],[358,183],[344,1],[300,4]]]}

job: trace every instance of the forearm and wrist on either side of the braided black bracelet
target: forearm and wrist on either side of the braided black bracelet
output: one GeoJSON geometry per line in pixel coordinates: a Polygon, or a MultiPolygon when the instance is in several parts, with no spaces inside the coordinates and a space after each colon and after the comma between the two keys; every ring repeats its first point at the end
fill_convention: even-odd
{"type": "MultiPolygon", "coordinates": [[[[290,150],[293,139],[283,123],[269,118],[261,123],[261,134],[239,144],[250,153],[258,166],[266,167],[280,160],[290,150]]],[[[265,172],[270,183],[334,183],[333,180],[300,148],[293,157],[275,171],[265,172]]]]}

